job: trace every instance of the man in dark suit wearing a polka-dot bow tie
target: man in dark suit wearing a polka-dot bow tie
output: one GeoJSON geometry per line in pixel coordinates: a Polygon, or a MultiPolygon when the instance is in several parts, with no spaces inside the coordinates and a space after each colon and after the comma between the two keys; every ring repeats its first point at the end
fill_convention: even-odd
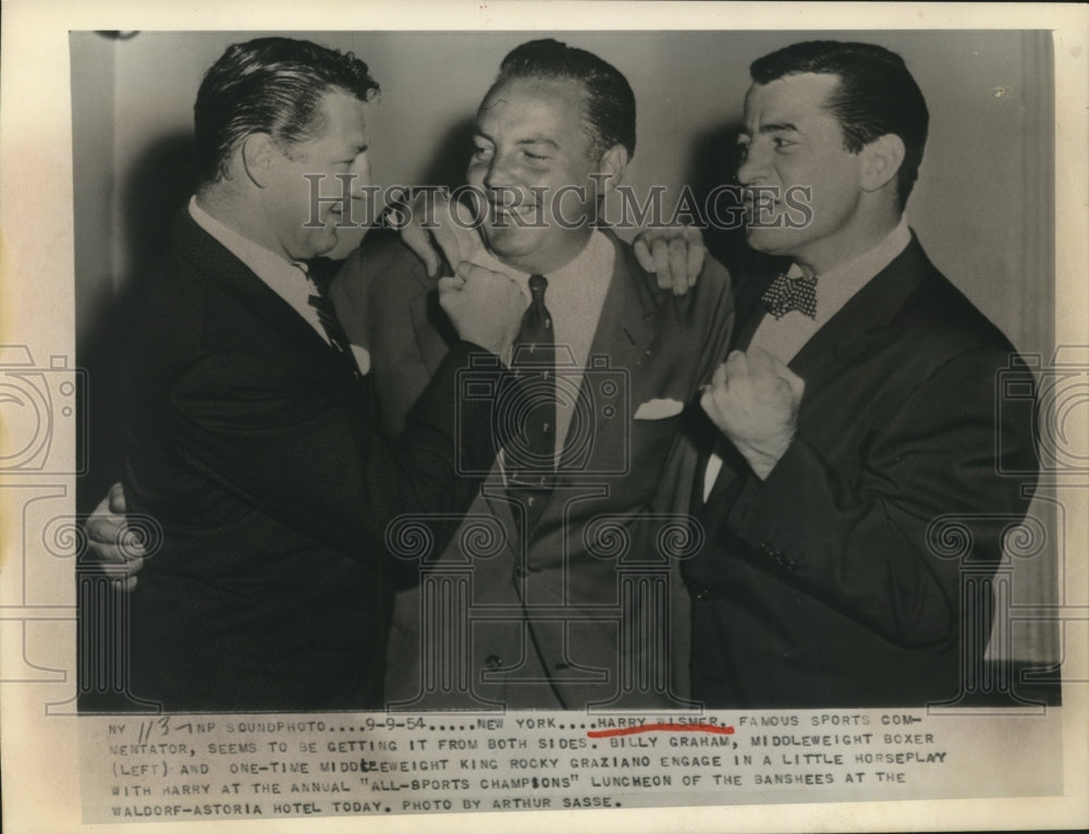
{"type": "Polygon", "coordinates": [[[962,643],[990,631],[978,578],[1031,488],[1002,475],[1035,465],[1030,420],[996,396],[1013,347],[903,218],[928,122],[903,60],[817,41],[751,76],[748,242],[791,269],[742,287],[735,349],[701,400],[721,437],[696,485],[708,545],[686,563],[694,696],[950,701],[978,674],[962,643]],[[967,537],[959,557],[943,520],[967,537]]]}

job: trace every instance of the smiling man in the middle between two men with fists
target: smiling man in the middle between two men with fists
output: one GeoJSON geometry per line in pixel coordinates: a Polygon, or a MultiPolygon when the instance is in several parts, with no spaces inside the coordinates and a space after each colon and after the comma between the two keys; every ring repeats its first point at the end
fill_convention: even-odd
{"type": "MultiPolygon", "coordinates": [[[[529,292],[543,277],[556,348],[553,416],[535,420],[530,398],[514,397],[515,432],[462,532],[445,553],[426,554],[423,586],[399,597],[388,700],[675,706],[668,666],[681,652],[672,653],[663,579],[677,554],[668,547],[670,520],[647,510],[661,491],[687,494],[687,482],[663,483],[661,474],[683,404],[724,355],[729,277],[709,260],[677,298],[631,247],[596,228],[635,149],[634,95],[597,56],[554,40],[513,50],[480,106],[475,145],[467,179],[484,198],[487,248],[476,240],[472,257],[529,292]],[[547,434],[542,465],[519,461],[518,430],[547,434]],[[474,530],[488,532],[478,539],[474,530]],[[462,586],[442,582],[462,568],[468,591],[458,597],[462,586]],[[440,586],[455,596],[450,618],[437,622],[440,586]]],[[[676,275],[684,272],[678,266],[676,275]]],[[[353,341],[372,353],[390,431],[401,430],[451,347],[433,287],[402,242],[368,240],[332,290],[353,341]]]]}

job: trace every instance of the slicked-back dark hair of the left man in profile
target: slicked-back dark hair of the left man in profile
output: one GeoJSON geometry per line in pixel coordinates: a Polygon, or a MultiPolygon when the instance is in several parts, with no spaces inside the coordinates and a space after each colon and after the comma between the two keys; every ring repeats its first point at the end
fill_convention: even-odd
{"type": "Polygon", "coordinates": [[[330,90],[369,100],[378,84],[351,52],[292,38],[233,44],[205,73],[193,108],[201,182],[227,173],[235,146],[254,133],[293,145],[325,128],[321,100],[330,90]]]}

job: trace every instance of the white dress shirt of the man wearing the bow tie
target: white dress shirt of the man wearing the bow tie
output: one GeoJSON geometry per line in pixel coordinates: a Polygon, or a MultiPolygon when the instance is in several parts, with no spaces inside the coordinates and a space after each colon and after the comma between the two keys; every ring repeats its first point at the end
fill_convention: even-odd
{"type": "MultiPolygon", "coordinates": [[[[843,306],[859,290],[892,263],[910,242],[911,232],[907,226],[907,220],[901,218],[900,224],[872,249],[817,275],[816,318],[811,319],[798,310],[791,310],[779,319],[767,315],[752,334],[749,347],[761,347],[784,365],[788,365],[805,347],[806,343],[812,339],[813,334],[843,309],[843,306]]],[[[795,263],[787,274],[791,278],[797,278],[804,272],[795,263]]],[[[711,494],[711,489],[714,487],[714,481],[721,470],[722,458],[712,453],[707,462],[707,470],[703,473],[703,501],[707,501],[711,494]]]]}

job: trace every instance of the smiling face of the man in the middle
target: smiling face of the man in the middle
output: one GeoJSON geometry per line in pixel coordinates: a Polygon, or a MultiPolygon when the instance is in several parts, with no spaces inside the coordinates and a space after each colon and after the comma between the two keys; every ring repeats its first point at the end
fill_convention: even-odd
{"type": "Polygon", "coordinates": [[[601,165],[585,96],[575,81],[513,78],[480,105],[466,177],[487,196],[481,233],[507,266],[554,271],[589,240],[601,165]]]}

